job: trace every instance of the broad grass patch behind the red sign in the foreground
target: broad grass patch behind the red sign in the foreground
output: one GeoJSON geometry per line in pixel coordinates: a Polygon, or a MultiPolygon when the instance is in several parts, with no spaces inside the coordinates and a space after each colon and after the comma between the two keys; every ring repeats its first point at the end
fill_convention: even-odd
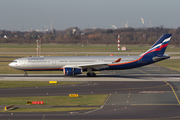
{"type": "Polygon", "coordinates": [[[44,101],[44,105],[54,106],[100,106],[104,103],[107,97],[107,94],[79,95],[78,97],[69,97],[69,95],[41,97],[0,97],[0,105],[26,105],[27,101],[44,101]]]}

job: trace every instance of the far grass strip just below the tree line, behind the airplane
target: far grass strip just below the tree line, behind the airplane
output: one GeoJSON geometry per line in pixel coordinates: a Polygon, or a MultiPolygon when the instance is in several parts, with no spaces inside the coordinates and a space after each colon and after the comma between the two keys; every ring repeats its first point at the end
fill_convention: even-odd
{"type": "MultiPolygon", "coordinates": [[[[139,52],[146,51],[150,48],[150,45],[121,45],[125,46],[129,51],[139,52]]],[[[1,52],[36,52],[36,44],[1,44],[1,52]]],[[[115,52],[117,45],[62,45],[62,44],[43,44],[41,46],[42,52],[115,52]]],[[[169,45],[167,52],[178,52],[180,48],[169,45]]]]}

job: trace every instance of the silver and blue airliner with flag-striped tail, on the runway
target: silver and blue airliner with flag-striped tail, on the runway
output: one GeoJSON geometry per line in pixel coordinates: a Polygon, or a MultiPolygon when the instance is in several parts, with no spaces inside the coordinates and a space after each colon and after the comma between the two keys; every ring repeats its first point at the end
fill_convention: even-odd
{"type": "Polygon", "coordinates": [[[94,71],[124,70],[149,65],[170,58],[164,55],[171,34],[162,35],[145,53],[137,56],[49,56],[23,57],[9,64],[10,67],[27,71],[63,71],[64,75],[75,76],[87,71],[88,77],[95,77],[94,71]]]}

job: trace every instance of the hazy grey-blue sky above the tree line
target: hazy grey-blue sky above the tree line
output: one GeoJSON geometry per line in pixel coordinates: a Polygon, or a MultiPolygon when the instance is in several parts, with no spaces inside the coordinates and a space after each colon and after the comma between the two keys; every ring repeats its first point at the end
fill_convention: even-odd
{"type": "Polygon", "coordinates": [[[0,0],[0,30],[180,26],[180,0],[0,0]],[[144,24],[140,18],[144,19],[144,24]]]}

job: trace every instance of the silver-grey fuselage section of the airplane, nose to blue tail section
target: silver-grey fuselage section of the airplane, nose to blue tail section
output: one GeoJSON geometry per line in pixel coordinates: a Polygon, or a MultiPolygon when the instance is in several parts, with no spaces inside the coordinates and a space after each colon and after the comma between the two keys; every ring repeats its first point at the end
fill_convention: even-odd
{"type": "Polygon", "coordinates": [[[126,63],[138,59],[140,56],[55,56],[55,57],[24,57],[9,64],[19,70],[58,70],[64,67],[78,67],[83,64],[113,63],[121,58],[119,63],[126,63]]]}

